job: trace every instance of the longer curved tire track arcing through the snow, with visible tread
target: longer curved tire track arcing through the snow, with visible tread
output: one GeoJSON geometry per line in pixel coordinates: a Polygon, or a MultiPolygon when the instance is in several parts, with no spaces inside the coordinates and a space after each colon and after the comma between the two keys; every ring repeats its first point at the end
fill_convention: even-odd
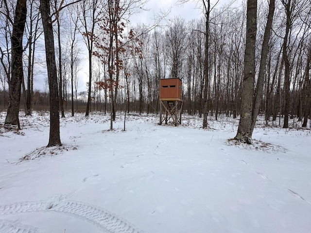
{"type": "Polygon", "coordinates": [[[95,225],[104,233],[142,233],[120,216],[98,206],[74,200],[22,201],[0,205],[0,216],[30,212],[55,212],[78,217],[95,225]]]}

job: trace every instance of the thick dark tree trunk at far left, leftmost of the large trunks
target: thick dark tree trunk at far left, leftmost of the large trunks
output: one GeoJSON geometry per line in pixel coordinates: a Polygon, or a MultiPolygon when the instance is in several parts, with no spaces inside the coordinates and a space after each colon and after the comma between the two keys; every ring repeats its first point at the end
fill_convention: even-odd
{"type": "Polygon", "coordinates": [[[12,75],[9,83],[9,105],[5,117],[5,125],[19,125],[19,102],[21,83],[24,79],[23,73],[23,34],[25,30],[27,15],[27,0],[17,0],[13,32],[11,36],[11,53],[12,53],[12,75]]]}

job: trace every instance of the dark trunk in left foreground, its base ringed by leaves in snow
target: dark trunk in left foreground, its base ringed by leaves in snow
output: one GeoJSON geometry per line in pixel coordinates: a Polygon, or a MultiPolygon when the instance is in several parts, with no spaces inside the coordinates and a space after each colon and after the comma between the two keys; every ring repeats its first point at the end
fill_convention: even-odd
{"type": "Polygon", "coordinates": [[[59,131],[59,97],[55,62],[54,36],[50,13],[50,1],[40,0],[40,12],[45,40],[45,54],[50,91],[50,139],[48,147],[61,146],[59,131]]]}

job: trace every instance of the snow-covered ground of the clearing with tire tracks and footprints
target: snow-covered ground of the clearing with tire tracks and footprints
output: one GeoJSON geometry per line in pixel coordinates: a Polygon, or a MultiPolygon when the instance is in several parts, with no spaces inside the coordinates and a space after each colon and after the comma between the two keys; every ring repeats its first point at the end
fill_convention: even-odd
{"type": "Polygon", "coordinates": [[[3,128],[0,233],[310,233],[311,131],[256,127],[254,145],[228,141],[238,120],[157,116],[61,119],[49,148],[49,115],[3,128]],[[23,159],[21,159],[23,158],[23,159]]]}

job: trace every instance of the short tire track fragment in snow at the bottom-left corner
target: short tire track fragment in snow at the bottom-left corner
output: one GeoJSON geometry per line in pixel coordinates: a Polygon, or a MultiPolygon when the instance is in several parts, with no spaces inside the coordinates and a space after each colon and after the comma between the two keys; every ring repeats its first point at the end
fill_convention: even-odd
{"type": "Polygon", "coordinates": [[[15,221],[0,220],[0,232],[3,233],[44,233],[33,226],[26,226],[15,221]]]}

